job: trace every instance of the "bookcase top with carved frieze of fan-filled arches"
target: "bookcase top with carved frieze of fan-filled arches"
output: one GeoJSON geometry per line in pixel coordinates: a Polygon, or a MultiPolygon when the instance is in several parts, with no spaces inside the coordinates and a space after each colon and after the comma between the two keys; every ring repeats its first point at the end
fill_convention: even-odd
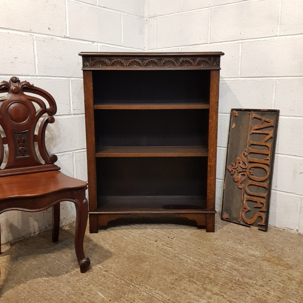
{"type": "Polygon", "coordinates": [[[81,52],[82,70],[96,69],[221,69],[222,52],[81,52]]]}

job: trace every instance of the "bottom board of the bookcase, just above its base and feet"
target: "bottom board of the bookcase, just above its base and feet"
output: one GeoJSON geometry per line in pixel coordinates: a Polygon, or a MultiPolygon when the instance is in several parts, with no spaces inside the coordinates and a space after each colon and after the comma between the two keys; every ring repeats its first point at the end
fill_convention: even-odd
{"type": "MultiPolygon", "coordinates": [[[[98,211],[106,212],[182,212],[206,213],[205,196],[99,196],[98,211]]],[[[97,212],[98,212],[97,211],[97,212]]],[[[211,211],[214,212],[214,211],[211,211]]],[[[90,212],[92,213],[92,212],[90,212]]]]}

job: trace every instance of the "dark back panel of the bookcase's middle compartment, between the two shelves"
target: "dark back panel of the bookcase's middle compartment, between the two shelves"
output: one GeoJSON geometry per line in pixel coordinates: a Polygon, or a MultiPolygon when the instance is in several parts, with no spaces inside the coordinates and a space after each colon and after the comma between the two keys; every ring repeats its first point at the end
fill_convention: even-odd
{"type": "Polygon", "coordinates": [[[95,110],[97,146],[207,145],[207,109],[95,110]]]}

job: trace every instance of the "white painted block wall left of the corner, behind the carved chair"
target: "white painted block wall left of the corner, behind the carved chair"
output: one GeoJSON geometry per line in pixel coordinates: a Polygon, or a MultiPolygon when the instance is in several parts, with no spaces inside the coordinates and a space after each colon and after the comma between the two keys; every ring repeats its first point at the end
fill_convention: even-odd
{"type": "MultiPolygon", "coordinates": [[[[79,52],[142,52],[145,1],[1,0],[0,81],[18,76],[53,95],[58,113],[47,148],[65,174],[87,181],[83,81],[79,52]]],[[[1,180],[0,180],[1,182],[1,180]]],[[[61,203],[61,224],[75,219],[61,203]]],[[[51,228],[51,211],[0,215],[1,242],[51,228]]]]}

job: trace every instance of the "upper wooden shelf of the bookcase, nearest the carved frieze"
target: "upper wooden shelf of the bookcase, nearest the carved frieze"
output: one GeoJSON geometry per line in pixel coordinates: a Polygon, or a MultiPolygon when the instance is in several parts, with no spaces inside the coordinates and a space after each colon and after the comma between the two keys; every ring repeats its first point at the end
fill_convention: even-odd
{"type": "Polygon", "coordinates": [[[203,109],[207,103],[99,103],[94,109],[203,109]]]}

